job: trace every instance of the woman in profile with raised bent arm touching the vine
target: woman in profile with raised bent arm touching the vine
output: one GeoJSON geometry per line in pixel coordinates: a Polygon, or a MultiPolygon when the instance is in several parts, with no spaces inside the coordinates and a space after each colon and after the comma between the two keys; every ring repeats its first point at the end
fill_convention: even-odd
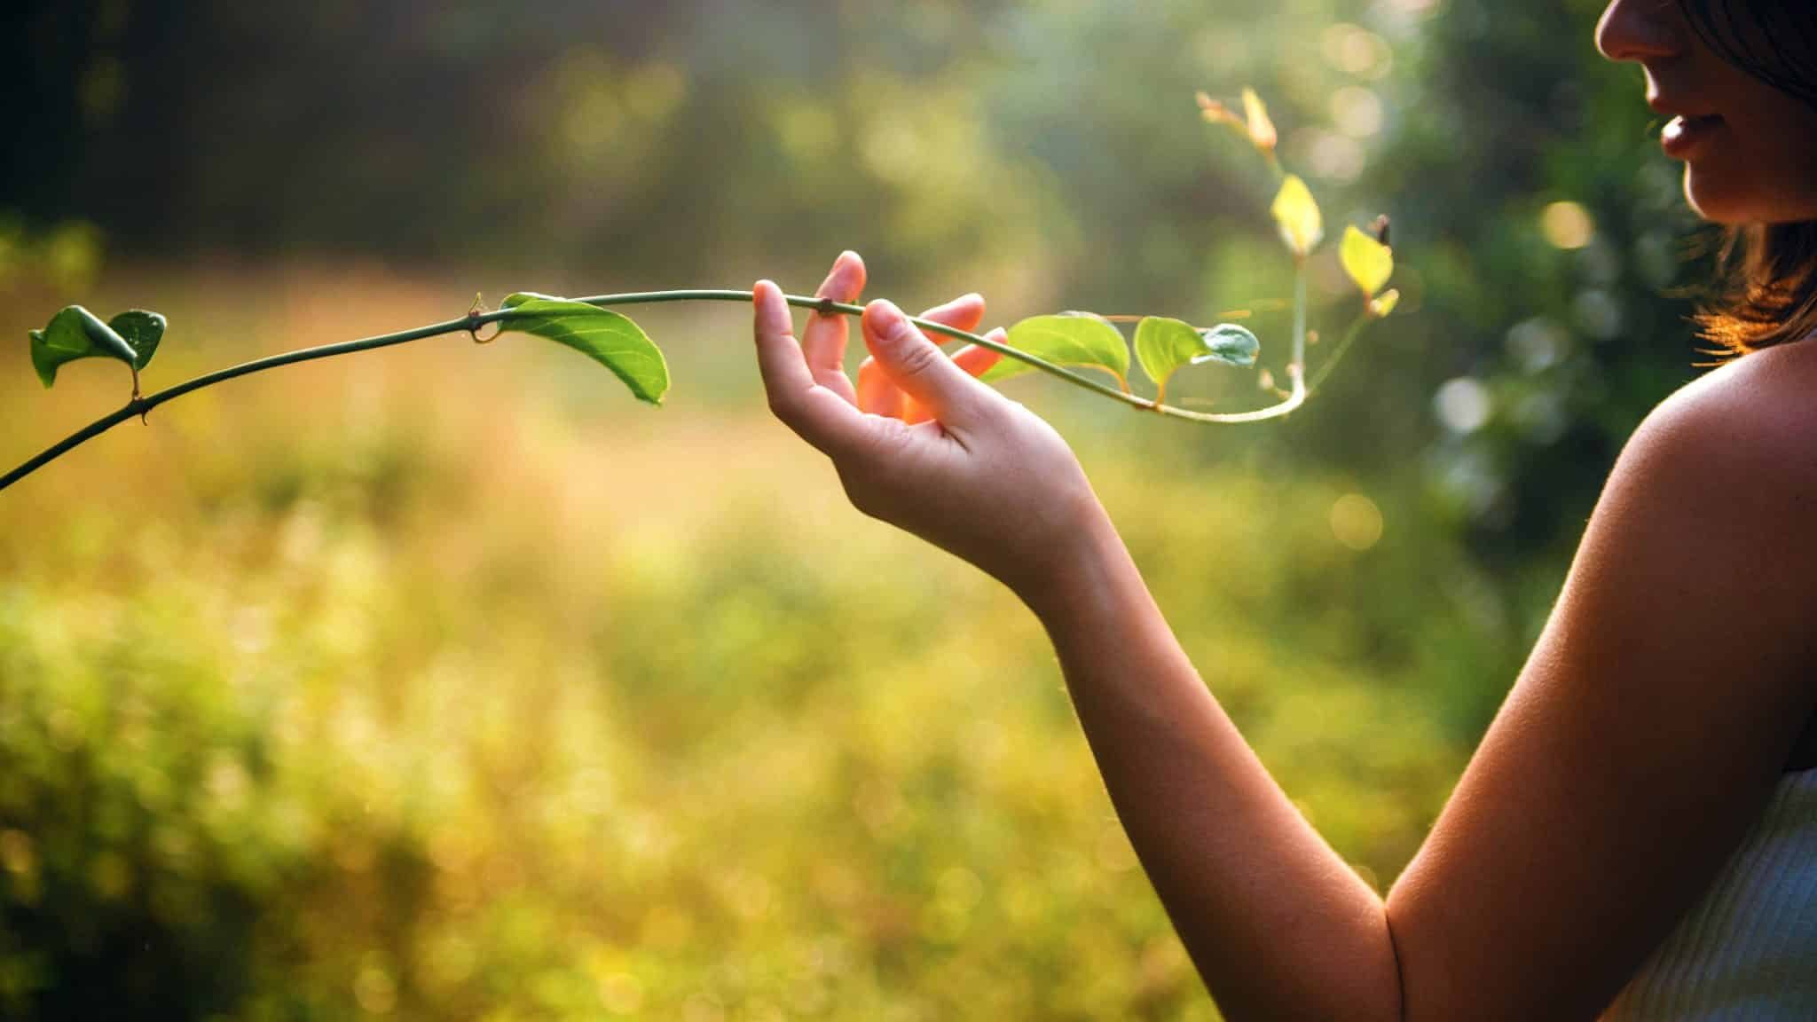
{"type": "MultiPolygon", "coordinates": [[[[776,415],[858,509],[988,571],[1047,627],[1230,1018],[1817,1018],[1817,15],[1719,4],[1617,0],[1597,44],[1646,69],[1692,205],[1748,225],[1741,289],[1706,316],[1744,356],[1628,442],[1532,658],[1386,898],[1201,684],[1067,444],[967,373],[983,353],[948,358],[874,302],[854,389],[845,320],[812,316],[798,346],[758,284],[776,415]]],[[[847,253],[819,295],[861,287],[847,253]]],[[[983,302],[930,316],[974,329],[983,302]]]]}

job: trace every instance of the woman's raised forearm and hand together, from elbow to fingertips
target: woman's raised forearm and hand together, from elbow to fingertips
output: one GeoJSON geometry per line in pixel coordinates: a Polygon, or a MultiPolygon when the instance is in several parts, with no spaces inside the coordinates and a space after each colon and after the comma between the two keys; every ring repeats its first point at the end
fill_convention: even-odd
{"type": "MultiPolygon", "coordinates": [[[[841,256],[821,293],[854,298],[861,282],[841,256]]],[[[1397,1018],[1381,898],[1205,691],[1065,438],[889,302],[865,309],[865,347],[939,426],[867,415],[843,375],[845,320],[810,318],[798,342],[781,291],[758,282],[752,296],[770,409],[832,458],[852,504],[1001,578],[1041,616],[1123,826],[1225,1013],[1397,1018]]]]}

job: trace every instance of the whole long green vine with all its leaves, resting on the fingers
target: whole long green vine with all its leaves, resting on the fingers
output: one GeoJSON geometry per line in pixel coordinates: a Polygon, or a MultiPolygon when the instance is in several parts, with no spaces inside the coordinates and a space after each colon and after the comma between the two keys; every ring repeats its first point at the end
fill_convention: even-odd
{"type": "MultiPolygon", "coordinates": [[[[988,347],[1003,355],[994,367],[979,378],[998,382],[1027,371],[1041,371],[1057,376],[1072,386],[1085,387],[1101,396],[1119,400],[1137,409],[1154,411],[1168,418],[1181,418],[1205,424],[1241,424],[1281,418],[1303,406],[1312,391],[1330,375],[1350,344],[1365,326],[1394,311],[1399,291],[1386,287],[1394,276],[1394,249],[1388,245],[1388,222],[1379,218],[1374,233],[1363,233],[1355,225],[1345,229],[1339,244],[1339,258],[1345,273],[1361,291],[1361,311],[1352,322],[1345,338],[1321,367],[1319,376],[1306,384],[1306,260],[1325,240],[1325,225],[1317,202],[1306,184],[1286,173],[1276,156],[1276,127],[1261,98],[1252,89],[1243,89],[1243,111],[1212,100],[1205,93],[1197,96],[1203,118],[1216,125],[1225,125],[1239,133],[1268,162],[1279,180],[1270,215],[1279,227],[1281,240],[1294,258],[1294,327],[1292,355],[1286,364],[1288,387],[1274,389],[1272,380],[1263,375],[1265,389],[1274,389],[1277,400],[1272,406],[1254,411],[1206,413],[1167,404],[1167,384],[1179,369],[1199,364],[1223,364],[1248,367],[1256,364],[1261,342],[1254,333],[1237,324],[1217,324],[1212,327],[1194,327],[1183,320],[1167,316],[1099,316],[1096,313],[1059,313],[1034,316],[1012,326],[1005,342],[976,333],[948,327],[945,324],[912,318],[921,331],[952,340],[963,340],[979,347],[988,347]],[[1125,340],[1117,322],[1136,322],[1132,340],[1125,340]],[[1128,386],[1130,351],[1136,362],[1154,382],[1156,396],[1136,395],[1128,386]],[[1097,369],[1108,373],[1116,386],[1087,376],[1076,369],[1097,369]]],[[[465,333],[474,342],[487,344],[501,333],[527,333],[554,340],[587,355],[612,371],[632,393],[634,398],[660,406],[669,391],[669,364],[663,353],[643,333],[643,329],[616,306],[649,306],[663,302],[750,302],[750,291],[721,289],[681,289],[681,291],[640,291],[627,295],[596,295],[589,298],[556,298],[536,293],[518,293],[505,298],[496,311],[485,311],[478,304],[462,318],[429,324],[423,327],[303,347],[242,362],[227,369],[205,373],[173,387],[142,395],[140,371],[151,364],[165,333],[165,318],[158,313],[131,309],[102,320],[82,306],[67,306],[51,316],[44,329],[31,331],[31,360],[38,378],[45,387],[56,382],[56,371],[65,362],[80,358],[113,358],[124,362],[133,375],[133,396],[125,407],[105,415],[76,433],[65,436],[38,456],[0,476],[0,489],[13,486],[40,467],[67,455],[74,447],[100,436],[102,433],[138,416],[142,422],[151,409],[173,402],[187,393],[200,391],[280,366],[372,351],[431,336],[465,333]],[[492,335],[482,336],[485,327],[496,327],[492,335]]],[[[861,306],[832,302],[829,298],[809,298],[787,295],[794,307],[812,309],[821,315],[856,316],[861,306]]]]}

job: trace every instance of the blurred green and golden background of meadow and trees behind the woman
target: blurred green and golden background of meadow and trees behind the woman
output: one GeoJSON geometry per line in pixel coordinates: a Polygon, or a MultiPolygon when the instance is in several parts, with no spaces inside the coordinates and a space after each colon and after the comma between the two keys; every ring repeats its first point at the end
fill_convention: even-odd
{"type": "MultiPolygon", "coordinates": [[[[1007,389],[1385,889],[1699,360],[1706,238],[1597,11],[11,4],[0,462],[122,396],[33,378],[67,302],[169,315],[153,387],[474,291],[809,291],[843,247],[907,306],[1208,322],[1286,295],[1270,178],[1192,102],[1256,85],[1330,235],[1394,216],[1403,311],[1285,424],[1007,389]]],[[[1314,284],[1335,333],[1328,251],[1314,284]]],[[[661,411],[440,338],[0,495],[0,1018],[1216,1018],[1027,611],[845,506],[745,311],[638,318],[661,411]]]]}

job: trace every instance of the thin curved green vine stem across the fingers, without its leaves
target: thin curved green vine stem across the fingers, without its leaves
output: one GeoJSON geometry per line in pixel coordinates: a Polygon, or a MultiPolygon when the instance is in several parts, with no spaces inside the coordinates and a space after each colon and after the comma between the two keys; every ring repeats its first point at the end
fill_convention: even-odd
{"type": "MultiPolygon", "coordinates": [[[[827,300],[821,300],[821,298],[809,298],[809,296],[801,296],[801,295],[787,295],[785,300],[790,306],[794,306],[794,307],[814,309],[814,311],[819,311],[819,313],[843,313],[843,315],[849,315],[849,316],[858,316],[858,315],[863,315],[863,311],[865,311],[863,306],[852,306],[849,302],[827,302],[827,300]]],[[[576,302],[585,302],[589,306],[600,306],[600,307],[605,307],[605,306],[654,306],[654,304],[663,304],[663,302],[750,302],[750,291],[720,291],[720,289],[636,291],[636,293],[625,293],[625,295],[594,295],[594,296],[589,296],[589,298],[576,298],[576,302]]],[[[249,376],[253,373],[263,373],[265,369],[276,369],[280,366],[294,366],[298,362],[314,362],[316,358],[333,358],[336,355],[352,355],[354,351],[372,351],[372,349],[378,349],[378,347],[391,347],[394,344],[409,344],[412,340],[425,340],[425,338],[431,338],[431,336],[442,336],[442,335],[451,335],[451,333],[474,333],[480,327],[489,326],[489,324],[503,324],[512,315],[516,315],[512,309],[498,309],[494,313],[469,313],[469,315],[462,316],[458,320],[445,320],[445,322],[440,322],[440,324],[429,324],[425,327],[407,329],[407,331],[400,331],[400,333],[387,333],[387,335],[367,336],[367,338],[360,338],[360,340],[343,340],[340,344],[323,344],[323,346],[318,346],[318,347],[302,347],[298,351],[285,351],[283,355],[273,355],[269,358],[254,358],[251,362],[242,362],[238,366],[229,366],[227,369],[216,369],[214,373],[204,373],[202,376],[196,376],[193,380],[185,380],[182,384],[176,384],[174,387],[165,387],[165,389],[156,391],[153,395],[145,395],[145,396],[136,396],[134,395],[134,398],[129,400],[125,404],[125,407],[122,407],[122,409],[118,409],[118,411],[114,411],[111,415],[105,415],[102,418],[96,418],[94,422],[84,426],[76,433],[71,433],[64,440],[58,440],[56,444],[53,444],[51,447],[47,447],[45,451],[42,451],[38,456],[27,460],[25,464],[22,464],[16,469],[13,469],[13,471],[5,473],[4,476],[0,476],[0,489],[5,489],[9,486],[13,486],[15,482],[29,476],[31,473],[42,469],[44,466],[55,462],[56,458],[67,455],[69,451],[73,451],[76,447],[80,447],[82,444],[87,444],[89,440],[100,436],[102,433],[107,433],[114,426],[120,426],[122,422],[125,422],[125,420],[129,420],[133,416],[144,418],[145,415],[151,413],[151,409],[158,407],[160,404],[173,402],[173,400],[176,400],[176,398],[180,398],[180,396],[184,396],[187,393],[200,391],[202,387],[211,387],[214,384],[222,384],[222,382],[233,380],[236,376],[249,376]]],[[[979,336],[976,333],[967,333],[963,329],[954,329],[954,327],[948,327],[945,324],[928,322],[928,320],[923,320],[923,318],[918,318],[918,316],[910,316],[910,322],[916,324],[918,327],[921,327],[927,333],[938,333],[941,336],[950,336],[954,340],[963,340],[963,342],[968,342],[968,344],[976,344],[979,347],[988,347],[992,351],[1001,353],[1007,358],[1016,358],[1016,360],[1027,362],[1028,366],[1032,366],[1032,367],[1036,367],[1036,369],[1039,369],[1039,371],[1043,371],[1043,373],[1047,373],[1050,376],[1059,376],[1061,380],[1067,380],[1072,386],[1085,387],[1088,391],[1096,391],[1099,395],[1105,395],[1107,398],[1119,400],[1123,404],[1128,404],[1128,406],[1134,406],[1134,407],[1139,407],[1139,409],[1145,409],[1145,411],[1154,411],[1154,413],[1159,413],[1159,415],[1165,415],[1165,416],[1170,416],[1170,418],[1185,418],[1185,420],[1190,420],[1190,422],[1225,422],[1225,424],[1230,424],[1230,422],[1263,422],[1266,418],[1279,418],[1279,416],[1294,411],[1296,407],[1299,407],[1306,400],[1306,387],[1305,387],[1306,276],[1305,276],[1305,267],[1296,267],[1296,287],[1294,287],[1294,362],[1288,366],[1288,375],[1294,380],[1294,387],[1288,393],[1286,400],[1283,400],[1281,404],[1276,404],[1276,406],[1270,406],[1270,407],[1263,407],[1263,409],[1257,409],[1257,411],[1245,411],[1245,413],[1210,415],[1210,413],[1201,413],[1201,411],[1187,411],[1183,407],[1174,407],[1174,406],[1167,406],[1167,404],[1161,404],[1161,402],[1154,402],[1154,400],[1148,400],[1148,398],[1136,396],[1132,393],[1121,391],[1121,389],[1112,387],[1108,384],[1101,384],[1097,380],[1092,380],[1090,376],[1083,376],[1079,373],[1074,373],[1072,369],[1067,369],[1063,366],[1056,366],[1052,362],[1047,362],[1045,358],[1028,355],[1027,351],[1018,351],[1018,349],[1014,349],[1014,347],[1010,347],[1007,344],[999,344],[996,340],[990,340],[987,336],[979,336]]]]}

